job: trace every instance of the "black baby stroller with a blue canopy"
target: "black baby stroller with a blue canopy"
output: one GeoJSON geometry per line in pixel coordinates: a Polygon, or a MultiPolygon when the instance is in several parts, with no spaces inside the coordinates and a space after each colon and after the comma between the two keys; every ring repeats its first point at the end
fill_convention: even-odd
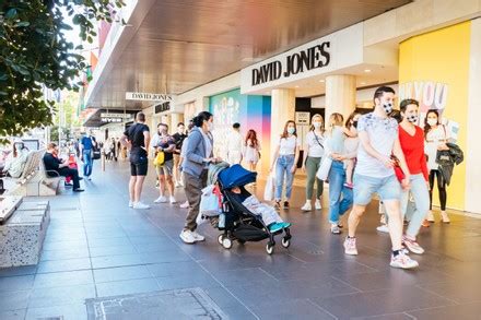
{"type": "Polygon", "coordinates": [[[256,177],[256,173],[248,171],[241,165],[233,165],[219,173],[218,183],[224,198],[221,215],[224,215],[225,221],[223,226],[221,223],[219,224],[218,228],[224,233],[219,235],[218,240],[225,249],[231,249],[234,240],[243,245],[246,241],[268,239],[266,251],[272,254],[275,246],[274,236],[284,233],[281,240],[282,247],[289,248],[291,245],[292,236],[289,227],[271,233],[261,217],[239,203],[237,198],[233,195],[234,193],[230,191],[233,187],[239,187],[243,194],[251,195],[244,186],[255,182],[256,177]]]}

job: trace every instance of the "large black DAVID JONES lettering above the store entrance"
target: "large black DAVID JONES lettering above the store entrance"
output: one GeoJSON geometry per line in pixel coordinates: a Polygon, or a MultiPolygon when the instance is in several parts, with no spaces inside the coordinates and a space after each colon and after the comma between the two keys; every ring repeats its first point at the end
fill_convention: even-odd
{"type": "Polygon", "coordinates": [[[253,85],[326,67],[330,61],[329,47],[330,42],[324,42],[320,45],[286,56],[284,61],[275,60],[253,69],[253,85]]]}

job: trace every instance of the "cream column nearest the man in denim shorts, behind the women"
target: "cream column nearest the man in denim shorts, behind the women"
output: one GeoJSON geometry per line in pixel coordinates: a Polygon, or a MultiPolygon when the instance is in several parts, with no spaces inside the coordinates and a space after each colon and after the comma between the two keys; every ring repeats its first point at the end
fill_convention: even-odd
{"type": "Polygon", "coordinates": [[[326,123],[333,112],[344,119],[355,109],[355,76],[336,74],[326,76],[326,123]]]}

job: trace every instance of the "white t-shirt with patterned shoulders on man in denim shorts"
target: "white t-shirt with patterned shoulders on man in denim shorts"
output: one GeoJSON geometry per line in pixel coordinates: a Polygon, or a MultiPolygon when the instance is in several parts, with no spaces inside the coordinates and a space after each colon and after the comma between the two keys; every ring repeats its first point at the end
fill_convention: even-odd
{"type": "MultiPolygon", "coordinates": [[[[390,157],[396,139],[398,139],[398,122],[392,118],[379,118],[373,112],[362,116],[357,122],[357,132],[367,132],[372,147],[378,153],[390,157]]],[[[395,174],[392,168],[371,156],[362,143],[357,149],[356,174],[374,178],[385,178],[395,174]]]]}

